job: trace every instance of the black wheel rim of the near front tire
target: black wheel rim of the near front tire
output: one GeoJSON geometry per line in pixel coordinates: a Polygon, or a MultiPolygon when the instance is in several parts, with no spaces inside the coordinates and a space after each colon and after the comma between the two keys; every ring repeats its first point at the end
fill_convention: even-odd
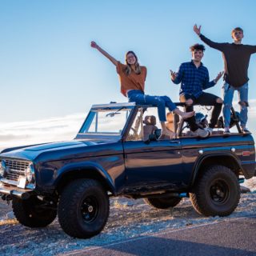
{"type": "Polygon", "coordinates": [[[82,201],[81,214],[83,222],[93,222],[98,216],[98,200],[94,196],[88,196],[82,201]]]}

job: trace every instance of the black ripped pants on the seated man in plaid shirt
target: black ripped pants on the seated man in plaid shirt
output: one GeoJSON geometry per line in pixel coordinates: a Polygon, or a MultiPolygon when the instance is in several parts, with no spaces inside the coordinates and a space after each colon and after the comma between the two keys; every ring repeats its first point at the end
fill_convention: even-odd
{"type": "MultiPolygon", "coordinates": [[[[214,126],[218,122],[218,116],[222,111],[222,103],[217,102],[217,96],[214,94],[208,94],[208,93],[202,93],[198,98],[194,98],[192,94],[182,94],[180,96],[180,101],[181,102],[186,102],[188,99],[193,100],[192,105],[187,105],[186,112],[190,112],[194,110],[194,105],[202,105],[202,106],[214,106],[214,109],[211,113],[211,118],[210,118],[210,128],[214,128],[214,126]]],[[[193,116],[192,118],[187,118],[186,122],[190,126],[190,130],[195,131],[198,129],[198,125],[196,123],[195,117],[193,116]]]]}

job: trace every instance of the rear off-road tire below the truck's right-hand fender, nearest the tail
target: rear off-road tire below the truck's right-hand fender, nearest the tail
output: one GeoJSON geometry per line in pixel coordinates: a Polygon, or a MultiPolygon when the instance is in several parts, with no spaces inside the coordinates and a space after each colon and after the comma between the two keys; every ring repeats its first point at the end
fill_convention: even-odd
{"type": "Polygon", "coordinates": [[[190,193],[194,209],[205,216],[230,215],[238,206],[239,199],[238,178],[226,166],[208,167],[190,193]]]}

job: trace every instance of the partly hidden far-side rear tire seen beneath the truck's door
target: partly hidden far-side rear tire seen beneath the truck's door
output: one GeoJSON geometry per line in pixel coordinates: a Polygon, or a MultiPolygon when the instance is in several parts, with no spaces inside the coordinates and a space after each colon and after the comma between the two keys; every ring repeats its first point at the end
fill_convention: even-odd
{"type": "Polygon", "coordinates": [[[157,209],[168,209],[177,206],[179,202],[181,202],[182,198],[144,198],[144,202],[148,205],[153,206],[157,209]]]}

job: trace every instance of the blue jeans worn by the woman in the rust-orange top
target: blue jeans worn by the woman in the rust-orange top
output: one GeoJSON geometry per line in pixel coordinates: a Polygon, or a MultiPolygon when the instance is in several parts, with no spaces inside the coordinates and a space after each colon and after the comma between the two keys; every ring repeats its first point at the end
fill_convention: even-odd
{"type": "Polygon", "coordinates": [[[130,90],[127,94],[129,102],[136,102],[138,105],[153,105],[158,107],[160,122],[166,122],[166,107],[170,111],[176,110],[177,106],[167,96],[150,96],[141,90],[130,90]]]}

